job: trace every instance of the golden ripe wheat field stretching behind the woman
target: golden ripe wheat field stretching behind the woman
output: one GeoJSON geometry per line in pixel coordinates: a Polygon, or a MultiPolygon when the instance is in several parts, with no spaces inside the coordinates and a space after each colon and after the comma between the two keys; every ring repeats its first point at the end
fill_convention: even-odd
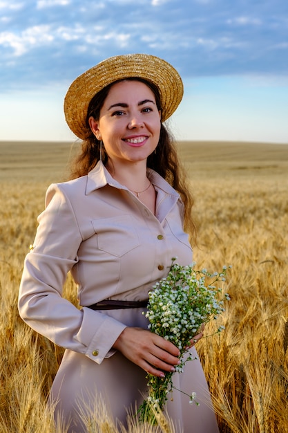
{"type": "MultiPolygon", "coordinates": [[[[31,331],[17,311],[23,259],[46,188],[63,181],[77,142],[0,142],[1,433],[57,431],[46,398],[63,349],[31,331]]],[[[231,265],[231,302],[197,344],[222,433],[288,432],[288,145],[181,142],[195,196],[197,267],[231,265]]],[[[75,300],[68,277],[65,294],[75,300]]],[[[89,432],[116,432],[102,411],[89,432]]],[[[131,420],[123,432],[173,432],[131,420]]],[[[184,433],[193,433],[184,432],[184,433]]],[[[209,432],[207,432],[209,433],[209,432]]]]}

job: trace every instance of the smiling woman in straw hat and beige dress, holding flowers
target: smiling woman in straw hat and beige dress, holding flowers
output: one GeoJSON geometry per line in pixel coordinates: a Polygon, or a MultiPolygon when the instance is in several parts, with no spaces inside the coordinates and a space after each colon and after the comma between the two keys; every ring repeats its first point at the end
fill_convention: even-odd
{"type": "MultiPolygon", "coordinates": [[[[142,54],[106,59],[68,89],[66,121],[83,140],[82,153],[72,180],[48,188],[19,311],[66,348],[50,401],[69,432],[86,432],[83,415],[100,401],[125,425],[127,409],[142,403],[146,372],[164,376],[179,362],[177,347],[148,331],[142,312],[172,257],[183,265],[192,261],[183,223],[193,234],[193,202],[162,123],[182,93],[170,64],[142,54]],[[81,308],[61,297],[68,271],[81,308]]],[[[200,361],[174,376],[177,388],[203,400],[191,407],[174,391],[167,412],[175,425],[187,433],[218,432],[204,403],[209,393],[200,361]]]]}

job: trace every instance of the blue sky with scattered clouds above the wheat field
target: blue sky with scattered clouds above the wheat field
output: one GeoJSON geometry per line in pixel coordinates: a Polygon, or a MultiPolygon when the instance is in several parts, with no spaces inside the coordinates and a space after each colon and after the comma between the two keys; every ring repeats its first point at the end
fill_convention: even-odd
{"type": "Polygon", "coordinates": [[[288,143],[287,0],[0,0],[0,140],[74,140],[68,86],[126,53],[182,76],[177,139],[288,143]]]}

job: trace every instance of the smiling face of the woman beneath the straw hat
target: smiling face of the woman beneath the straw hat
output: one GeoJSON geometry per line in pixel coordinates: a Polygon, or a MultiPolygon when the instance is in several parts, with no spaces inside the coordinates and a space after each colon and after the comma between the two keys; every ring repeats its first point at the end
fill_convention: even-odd
{"type": "Polygon", "coordinates": [[[160,118],[153,91],[142,82],[126,80],[111,87],[99,119],[90,117],[89,125],[113,165],[128,164],[146,160],[155,150],[160,118]]]}

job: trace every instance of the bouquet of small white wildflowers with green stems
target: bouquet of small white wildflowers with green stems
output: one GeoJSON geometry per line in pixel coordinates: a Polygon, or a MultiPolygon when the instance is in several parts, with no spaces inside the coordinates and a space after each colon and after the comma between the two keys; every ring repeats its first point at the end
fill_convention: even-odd
{"type": "MultiPolygon", "coordinates": [[[[191,340],[200,332],[201,326],[211,319],[217,319],[224,311],[223,303],[229,295],[222,293],[219,282],[225,281],[227,267],[220,273],[209,273],[206,269],[194,270],[191,266],[174,263],[166,278],[153,286],[149,293],[148,311],[143,313],[150,324],[148,328],[175,344],[180,350],[180,365],[175,372],[181,373],[184,364],[193,360],[191,354],[184,359],[184,354],[191,347],[191,340]]],[[[224,329],[220,326],[218,331],[224,329]]],[[[148,374],[148,397],[140,406],[140,421],[155,420],[155,414],[164,409],[169,391],[172,391],[174,372],[166,372],[164,378],[148,374]]],[[[199,403],[195,392],[189,396],[190,403],[199,403]]]]}

